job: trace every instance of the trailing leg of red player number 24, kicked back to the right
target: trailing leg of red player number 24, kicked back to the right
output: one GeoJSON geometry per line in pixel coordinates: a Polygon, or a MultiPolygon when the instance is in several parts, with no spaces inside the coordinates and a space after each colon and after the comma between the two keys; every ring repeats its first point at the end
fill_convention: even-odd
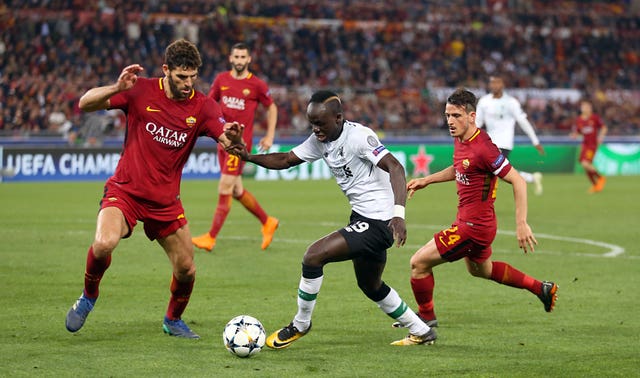
{"type": "Polygon", "coordinates": [[[546,312],[551,312],[557,299],[558,285],[553,282],[542,282],[519,271],[502,261],[477,261],[466,257],[467,270],[475,277],[490,279],[499,284],[526,289],[535,294],[543,303],[546,312]]]}

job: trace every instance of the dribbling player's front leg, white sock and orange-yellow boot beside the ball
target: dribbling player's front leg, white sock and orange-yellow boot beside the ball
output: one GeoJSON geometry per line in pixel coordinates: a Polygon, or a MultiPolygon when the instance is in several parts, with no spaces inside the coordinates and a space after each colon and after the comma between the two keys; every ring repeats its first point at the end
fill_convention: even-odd
{"type": "Polygon", "coordinates": [[[266,345],[281,349],[306,335],[311,329],[311,315],[323,280],[323,267],[330,262],[351,259],[349,246],[339,232],[315,241],[302,259],[302,277],[298,285],[298,312],[291,323],[267,337],[266,345]]]}

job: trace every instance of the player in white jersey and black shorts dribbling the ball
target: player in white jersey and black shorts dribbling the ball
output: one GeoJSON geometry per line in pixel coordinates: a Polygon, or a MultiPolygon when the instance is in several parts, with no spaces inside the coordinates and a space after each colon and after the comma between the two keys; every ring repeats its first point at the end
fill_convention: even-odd
{"type": "Polygon", "coordinates": [[[409,328],[412,340],[432,344],[435,330],[409,309],[382,281],[387,248],[404,244],[406,181],[404,167],[368,127],[344,119],[340,98],[330,91],[311,96],[307,119],[313,134],[289,152],[249,155],[243,160],[265,168],[287,169],[323,159],[351,204],[349,224],[311,244],[302,258],[298,312],[289,325],[267,337],[267,346],[285,348],[311,329],[311,314],[323,279],[323,267],[351,260],[358,287],[380,309],[409,328]]]}

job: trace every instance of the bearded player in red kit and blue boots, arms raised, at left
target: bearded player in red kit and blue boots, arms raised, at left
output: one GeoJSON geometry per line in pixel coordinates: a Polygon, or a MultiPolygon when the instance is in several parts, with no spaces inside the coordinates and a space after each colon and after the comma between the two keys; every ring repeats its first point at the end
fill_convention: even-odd
{"type": "Polygon", "coordinates": [[[164,77],[138,77],[143,68],[132,64],[114,84],[92,88],[80,98],[80,109],[85,112],[122,109],[127,132],[120,161],[100,201],[96,233],[87,253],[84,290],[67,313],[70,332],[80,330],[93,309],[113,250],[142,221],[147,237],[158,240],[173,267],[163,330],[172,336],[199,338],[181,319],[196,273],[180,201],[182,168],[199,136],[224,145],[241,141],[239,125],[226,123],[218,104],[194,90],[201,65],[196,46],[178,40],[166,48],[164,77]]]}

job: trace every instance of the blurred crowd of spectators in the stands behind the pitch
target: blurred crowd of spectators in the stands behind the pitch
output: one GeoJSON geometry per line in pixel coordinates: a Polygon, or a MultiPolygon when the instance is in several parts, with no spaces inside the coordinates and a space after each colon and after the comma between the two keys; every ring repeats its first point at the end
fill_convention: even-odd
{"type": "MultiPolygon", "coordinates": [[[[306,134],[318,88],[341,93],[347,118],[388,135],[443,134],[438,88],[485,91],[501,72],[529,88],[541,135],[566,135],[577,98],[610,135],[640,131],[640,14],[628,1],[402,0],[5,1],[0,5],[0,136],[83,140],[122,132],[119,113],[87,116],[80,94],[130,63],[161,76],[163,46],[184,37],[203,56],[199,88],[252,46],[251,69],[278,104],[278,135],[306,134]],[[579,4],[578,4],[579,3],[579,4]],[[564,93],[564,92],[562,92],[564,93]],[[93,118],[91,118],[93,117],[93,118]]],[[[260,118],[260,117],[258,117],[260,118]]]]}

